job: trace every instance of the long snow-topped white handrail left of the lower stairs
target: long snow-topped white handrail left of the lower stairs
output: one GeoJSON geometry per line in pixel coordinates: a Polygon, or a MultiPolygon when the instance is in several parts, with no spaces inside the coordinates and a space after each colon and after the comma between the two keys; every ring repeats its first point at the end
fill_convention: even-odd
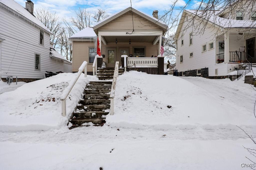
{"type": "Polygon", "coordinates": [[[82,65],[78,69],[77,77],[74,80],[71,80],[71,82],[69,83],[68,87],[65,88],[65,90],[63,91],[63,93],[62,93],[62,95],[60,97],[60,100],[61,100],[61,114],[62,114],[62,116],[66,116],[66,112],[67,112],[66,99],[67,99],[70,91],[72,90],[72,88],[76,84],[77,80],[79,79],[80,75],[82,74],[83,70],[84,70],[84,77],[87,77],[87,61],[84,61],[82,63],[82,65]]]}

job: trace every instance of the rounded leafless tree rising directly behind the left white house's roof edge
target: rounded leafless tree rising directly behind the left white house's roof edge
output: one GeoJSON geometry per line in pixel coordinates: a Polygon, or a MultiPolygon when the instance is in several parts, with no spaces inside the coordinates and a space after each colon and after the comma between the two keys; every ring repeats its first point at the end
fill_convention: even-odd
{"type": "Polygon", "coordinates": [[[62,22],[59,20],[56,12],[52,13],[49,9],[38,8],[35,10],[35,16],[52,32],[52,35],[50,35],[50,41],[55,42],[55,48],[59,43],[62,25],[62,22]]]}

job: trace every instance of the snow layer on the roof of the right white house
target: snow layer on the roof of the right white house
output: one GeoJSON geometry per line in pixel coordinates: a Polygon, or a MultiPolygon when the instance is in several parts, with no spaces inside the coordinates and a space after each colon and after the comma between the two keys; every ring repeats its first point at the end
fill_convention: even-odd
{"type": "Polygon", "coordinates": [[[189,10],[185,9],[185,11],[190,12],[191,14],[197,15],[201,18],[207,18],[208,21],[219,25],[223,28],[251,28],[256,27],[256,21],[253,20],[234,20],[234,19],[226,19],[218,16],[219,10],[216,11],[200,11],[200,10],[189,10]]]}

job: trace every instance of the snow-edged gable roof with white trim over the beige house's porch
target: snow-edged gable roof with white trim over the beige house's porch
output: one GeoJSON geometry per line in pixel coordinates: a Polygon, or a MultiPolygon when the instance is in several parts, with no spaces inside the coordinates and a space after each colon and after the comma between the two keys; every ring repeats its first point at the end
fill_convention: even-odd
{"type": "Polygon", "coordinates": [[[114,21],[115,19],[117,19],[117,18],[119,18],[119,17],[121,17],[121,16],[123,16],[123,15],[125,15],[125,14],[127,14],[129,12],[133,12],[133,14],[138,15],[141,18],[143,18],[143,19],[151,22],[152,24],[157,25],[158,27],[160,27],[160,28],[164,29],[165,31],[167,31],[167,28],[168,28],[167,24],[165,24],[164,22],[154,18],[153,16],[147,15],[147,14],[145,14],[145,13],[143,13],[141,11],[138,11],[138,10],[132,8],[132,7],[128,7],[128,8],[126,8],[126,9],[120,11],[120,12],[117,12],[117,13],[115,13],[115,14],[107,17],[107,18],[105,18],[102,21],[99,21],[98,23],[96,23],[94,25],[93,30],[99,29],[99,28],[103,27],[104,25],[114,21]]]}

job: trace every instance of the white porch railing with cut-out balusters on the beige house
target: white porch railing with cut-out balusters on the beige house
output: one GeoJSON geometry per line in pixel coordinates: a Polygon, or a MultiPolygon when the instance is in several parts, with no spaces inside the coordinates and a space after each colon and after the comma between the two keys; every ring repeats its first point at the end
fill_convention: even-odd
{"type": "Polygon", "coordinates": [[[127,58],[127,67],[132,66],[158,66],[158,58],[157,57],[128,57],[127,58]]]}

